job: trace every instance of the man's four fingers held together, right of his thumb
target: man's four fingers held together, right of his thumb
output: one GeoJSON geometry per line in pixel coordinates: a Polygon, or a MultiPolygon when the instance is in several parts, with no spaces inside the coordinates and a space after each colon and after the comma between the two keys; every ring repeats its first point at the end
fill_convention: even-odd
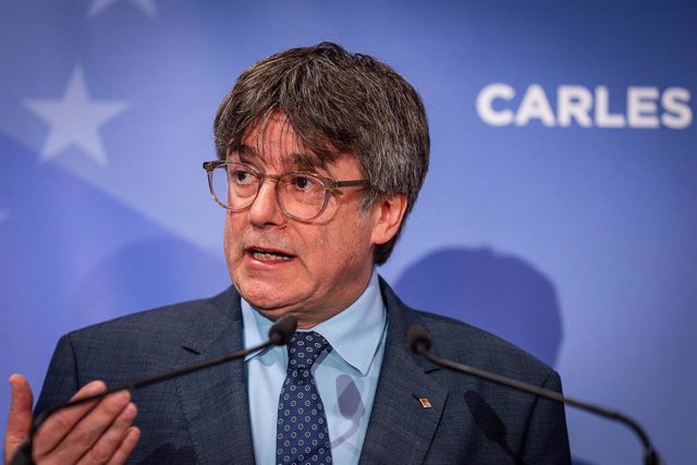
{"type": "MultiPolygon", "coordinates": [[[[90,384],[73,399],[103,392],[103,383],[90,384]]],[[[35,456],[48,463],[93,464],[107,463],[117,451],[131,453],[135,443],[132,444],[133,432],[129,431],[137,411],[130,401],[129,391],[120,391],[102,399],[91,409],[94,402],[69,408],[64,414],[57,413],[36,435],[35,456]],[[42,430],[46,432],[39,437],[42,430]]]]}

